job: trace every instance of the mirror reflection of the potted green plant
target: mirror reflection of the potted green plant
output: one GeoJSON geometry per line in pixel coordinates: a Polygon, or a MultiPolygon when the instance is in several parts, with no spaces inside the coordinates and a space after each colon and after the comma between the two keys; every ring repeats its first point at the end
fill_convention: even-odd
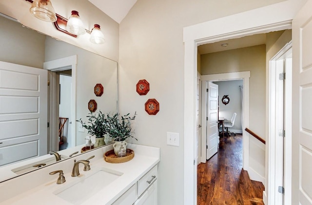
{"type": "Polygon", "coordinates": [[[88,124],[82,122],[81,118],[80,120],[77,120],[77,122],[81,123],[81,125],[86,130],[88,130],[88,134],[96,137],[94,147],[105,145],[104,135],[107,133],[105,129],[105,114],[103,114],[101,111],[98,113],[91,112],[86,117],[88,118],[88,124]]]}

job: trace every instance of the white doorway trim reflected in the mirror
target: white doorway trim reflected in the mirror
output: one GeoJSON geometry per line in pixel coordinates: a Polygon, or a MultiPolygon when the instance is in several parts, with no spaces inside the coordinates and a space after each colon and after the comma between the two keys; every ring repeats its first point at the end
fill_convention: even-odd
{"type": "MultiPolygon", "coordinates": [[[[62,59],[57,59],[54,61],[44,62],[43,63],[43,69],[50,70],[53,72],[63,71],[63,70],[69,70],[72,69],[72,92],[71,92],[71,119],[75,121],[76,119],[76,105],[77,105],[77,55],[69,56],[62,59]]],[[[53,111],[52,111],[53,112],[53,111]]],[[[58,120],[59,121],[59,120],[58,120]]],[[[72,141],[71,144],[73,146],[77,145],[76,140],[76,123],[73,122],[71,124],[72,130],[72,141]]],[[[50,133],[53,133],[53,130],[58,130],[58,126],[51,126],[50,133]]],[[[50,136],[54,136],[53,134],[50,136]]],[[[51,146],[51,145],[50,145],[51,146]]],[[[57,146],[59,147],[59,146],[57,146]]]]}

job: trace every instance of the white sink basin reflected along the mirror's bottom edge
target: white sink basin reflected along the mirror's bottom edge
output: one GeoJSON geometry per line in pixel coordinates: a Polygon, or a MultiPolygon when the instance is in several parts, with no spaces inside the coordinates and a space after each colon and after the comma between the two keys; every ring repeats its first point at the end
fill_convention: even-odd
{"type": "MultiPolygon", "coordinates": [[[[63,159],[66,159],[68,158],[68,156],[64,156],[64,155],[61,155],[60,156],[60,159],[63,160],[63,159]]],[[[12,169],[11,171],[13,171],[14,173],[16,174],[24,174],[24,173],[27,173],[27,172],[30,172],[30,171],[33,171],[33,170],[36,170],[42,166],[47,166],[49,164],[53,164],[56,162],[56,159],[54,156],[51,156],[47,159],[44,159],[44,160],[40,160],[38,162],[34,162],[34,163],[31,163],[31,164],[26,164],[26,165],[23,165],[23,166],[20,166],[20,167],[17,167],[17,168],[14,168],[12,169]],[[39,165],[41,164],[41,165],[39,165]],[[45,165],[43,165],[45,164],[45,165]],[[34,165],[38,165],[38,166],[35,166],[34,165]]]]}

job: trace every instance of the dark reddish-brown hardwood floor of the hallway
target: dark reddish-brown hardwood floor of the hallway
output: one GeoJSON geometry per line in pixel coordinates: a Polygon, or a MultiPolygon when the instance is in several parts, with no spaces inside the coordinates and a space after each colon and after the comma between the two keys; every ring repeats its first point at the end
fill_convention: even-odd
{"type": "Polygon", "coordinates": [[[225,137],[217,154],[197,166],[197,205],[263,205],[263,190],[242,169],[242,135],[225,137]]]}

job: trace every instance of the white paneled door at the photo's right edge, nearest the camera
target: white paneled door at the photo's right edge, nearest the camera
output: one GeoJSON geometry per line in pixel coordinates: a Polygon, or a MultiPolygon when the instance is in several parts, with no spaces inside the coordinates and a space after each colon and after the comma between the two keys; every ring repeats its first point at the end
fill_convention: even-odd
{"type": "Polygon", "coordinates": [[[292,204],[301,205],[312,205],[311,10],[312,0],[309,0],[292,24],[292,204]]]}

